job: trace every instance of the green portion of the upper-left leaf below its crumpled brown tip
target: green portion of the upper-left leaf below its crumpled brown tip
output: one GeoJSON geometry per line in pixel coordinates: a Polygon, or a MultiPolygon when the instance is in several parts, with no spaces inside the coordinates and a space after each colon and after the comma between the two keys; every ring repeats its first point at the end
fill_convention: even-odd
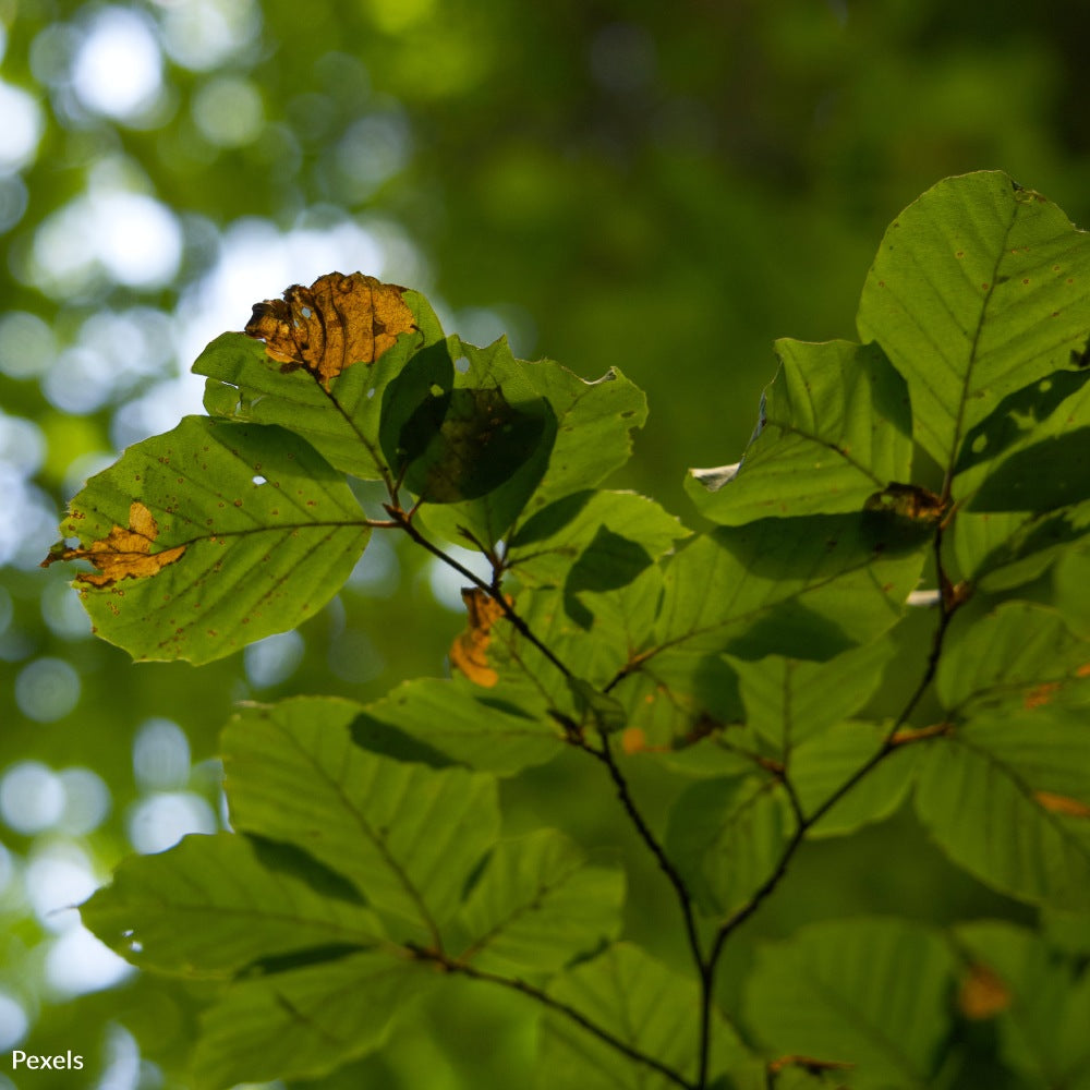
{"type": "Polygon", "coordinates": [[[378,439],[383,391],[421,349],[441,342],[431,305],[414,291],[401,296],[417,330],[402,334],[372,364],[347,367],[327,392],[317,377],[281,371],[265,346],[244,334],[217,337],[193,371],[207,375],[205,409],[214,416],[254,424],[279,424],[306,439],[330,465],[363,480],[378,480],[388,467],[378,439]]]}

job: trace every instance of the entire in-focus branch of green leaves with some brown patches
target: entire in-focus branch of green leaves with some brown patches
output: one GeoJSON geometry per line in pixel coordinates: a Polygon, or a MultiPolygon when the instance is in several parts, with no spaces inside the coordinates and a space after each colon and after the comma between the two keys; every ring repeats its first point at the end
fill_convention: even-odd
{"type": "Polygon", "coordinates": [[[777,344],[743,460],[690,474],[702,532],[598,487],[645,412],[619,372],[467,344],[360,274],[214,341],[209,416],[94,477],[47,560],[92,562],[99,634],[226,655],[318,609],[376,531],[461,572],[468,623],[450,678],[242,707],[233,832],[131,860],[84,906],[134,964],[220,982],[197,1083],[320,1075],[462,977],[540,1012],[543,1086],[955,1085],[974,1020],[1027,1086],[1090,1086],[1085,281],[1090,235],[1042,196],[940,183],[883,240],[862,343],[777,344]],[[625,937],[616,862],[505,833],[500,782],[564,750],[673,888],[687,972],[625,937]],[[663,829],[637,765],[688,784],[663,829]],[[763,948],[728,1018],[724,948],[797,852],[909,799],[1041,927],[814,924],[763,948]]]}

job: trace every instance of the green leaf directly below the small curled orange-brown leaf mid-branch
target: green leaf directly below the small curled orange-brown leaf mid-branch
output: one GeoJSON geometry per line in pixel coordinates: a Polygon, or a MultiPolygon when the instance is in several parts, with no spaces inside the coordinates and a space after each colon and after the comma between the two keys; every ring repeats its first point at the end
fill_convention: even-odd
{"type": "Polygon", "coordinates": [[[541,694],[521,678],[501,677],[487,690],[460,677],[405,681],[363,708],[358,740],[371,749],[364,720],[386,724],[453,761],[498,776],[552,761],[565,744],[541,694]]]}

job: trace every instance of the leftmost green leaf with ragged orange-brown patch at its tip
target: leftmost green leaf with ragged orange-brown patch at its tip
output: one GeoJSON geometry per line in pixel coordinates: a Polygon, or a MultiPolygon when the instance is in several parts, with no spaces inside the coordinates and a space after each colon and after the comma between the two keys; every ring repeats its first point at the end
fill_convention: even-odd
{"type": "Polygon", "coordinates": [[[315,614],[371,534],[342,475],[302,439],[203,416],[93,476],[61,532],[81,546],[46,562],[96,562],[80,586],[98,635],[134,658],[198,664],[315,614]]]}

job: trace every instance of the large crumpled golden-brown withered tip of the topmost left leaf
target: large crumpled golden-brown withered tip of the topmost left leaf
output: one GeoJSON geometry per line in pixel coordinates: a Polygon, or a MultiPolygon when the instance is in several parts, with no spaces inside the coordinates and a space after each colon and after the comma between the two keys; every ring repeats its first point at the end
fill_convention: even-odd
{"type": "Polygon", "coordinates": [[[327,272],[310,288],[292,284],[283,299],[255,303],[245,331],[265,341],[281,371],[305,368],[328,392],[346,367],[374,363],[415,328],[404,290],[363,272],[327,272]]]}

